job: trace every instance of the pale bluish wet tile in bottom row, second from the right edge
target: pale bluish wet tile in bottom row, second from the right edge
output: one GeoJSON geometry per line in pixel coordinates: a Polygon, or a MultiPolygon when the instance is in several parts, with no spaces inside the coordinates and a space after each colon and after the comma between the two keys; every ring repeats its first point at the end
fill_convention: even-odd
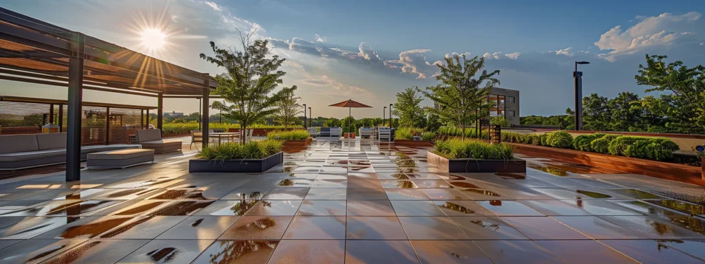
{"type": "Polygon", "coordinates": [[[600,242],[641,263],[701,263],[701,260],[654,240],[601,240],[600,242]]]}

